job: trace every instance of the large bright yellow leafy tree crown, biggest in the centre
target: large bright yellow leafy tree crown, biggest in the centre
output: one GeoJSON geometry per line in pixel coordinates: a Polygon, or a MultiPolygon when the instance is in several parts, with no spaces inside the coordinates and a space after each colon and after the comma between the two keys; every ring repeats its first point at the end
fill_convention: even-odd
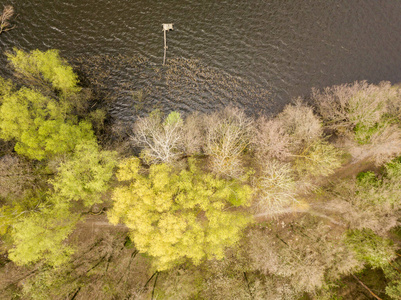
{"type": "Polygon", "coordinates": [[[185,259],[194,264],[222,259],[251,221],[232,209],[249,204],[251,188],[204,173],[193,160],[180,172],[166,164],[145,172],[138,158],[129,158],[121,162],[117,178],[125,184],[114,191],[109,219],[130,228],[136,247],[155,258],[158,270],[185,259]]]}

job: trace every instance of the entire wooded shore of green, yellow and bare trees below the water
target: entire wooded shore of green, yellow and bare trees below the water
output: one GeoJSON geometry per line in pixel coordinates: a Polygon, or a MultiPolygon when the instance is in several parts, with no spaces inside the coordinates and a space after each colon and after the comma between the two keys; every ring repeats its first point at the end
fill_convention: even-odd
{"type": "Polygon", "coordinates": [[[57,50],[6,56],[1,299],[401,299],[400,86],[121,134],[57,50]]]}

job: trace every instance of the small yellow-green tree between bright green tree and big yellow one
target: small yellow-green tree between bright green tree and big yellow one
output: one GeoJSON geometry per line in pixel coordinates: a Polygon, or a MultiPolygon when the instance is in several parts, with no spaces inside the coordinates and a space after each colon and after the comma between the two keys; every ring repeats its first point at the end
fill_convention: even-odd
{"type": "Polygon", "coordinates": [[[116,166],[116,153],[101,151],[96,143],[77,145],[70,159],[62,163],[54,180],[55,192],[69,200],[82,199],[87,206],[101,202],[116,166]]]}

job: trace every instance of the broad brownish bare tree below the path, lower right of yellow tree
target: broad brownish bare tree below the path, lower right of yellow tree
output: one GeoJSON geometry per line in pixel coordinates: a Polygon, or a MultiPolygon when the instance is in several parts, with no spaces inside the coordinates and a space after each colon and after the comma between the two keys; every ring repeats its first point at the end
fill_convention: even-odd
{"type": "Polygon", "coordinates": [[[246,245],[255,271],[287,278],[300,292],[313,293],[326,280],[361,267],[341,232],[309,216],[290,224],[252,229],[246,245]]]}

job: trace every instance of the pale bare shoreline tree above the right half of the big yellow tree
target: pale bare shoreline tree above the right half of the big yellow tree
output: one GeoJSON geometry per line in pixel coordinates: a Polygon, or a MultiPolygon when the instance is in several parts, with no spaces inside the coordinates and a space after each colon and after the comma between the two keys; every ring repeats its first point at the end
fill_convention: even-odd
{"type": "Polygon", "coordinates": [[[205,117],[205,152],[211,169],[221,175],[236,177],[243,171],[241,156],[250,144],[253,120],[233,107],[205,117]]]}

